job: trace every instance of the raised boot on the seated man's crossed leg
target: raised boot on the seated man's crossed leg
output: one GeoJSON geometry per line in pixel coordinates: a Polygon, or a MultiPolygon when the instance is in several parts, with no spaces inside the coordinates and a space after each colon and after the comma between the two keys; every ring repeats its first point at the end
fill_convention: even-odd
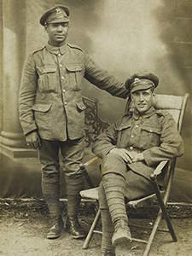
{"type": "Polygon", "coordinates": [[[114,226],[112,237],[113,246],[123,246],[131,242],[131,231],[124,220],[119,220],[114,226]]]}

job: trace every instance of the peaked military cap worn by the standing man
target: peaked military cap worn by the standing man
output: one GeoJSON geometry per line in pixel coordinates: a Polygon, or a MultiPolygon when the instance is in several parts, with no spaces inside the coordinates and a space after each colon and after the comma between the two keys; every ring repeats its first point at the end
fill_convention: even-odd
{"type": "Polygon", "coordinates": [[[54,7],[46,10],[41,16],[39,22],[42,26],[46,23],[58,23],[69,21],[69,9],[62,4],[55,5],[54,7]]]}

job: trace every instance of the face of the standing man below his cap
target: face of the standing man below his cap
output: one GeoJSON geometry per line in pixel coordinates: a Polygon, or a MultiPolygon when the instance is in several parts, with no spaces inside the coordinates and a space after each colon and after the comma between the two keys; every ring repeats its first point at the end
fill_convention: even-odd
{"type": "Polygon", "coordinates": [[[49,36],[49,44],[58,46],[64,44],[68,34],[68,22],[49,23],[45,29],[49,36]]]}

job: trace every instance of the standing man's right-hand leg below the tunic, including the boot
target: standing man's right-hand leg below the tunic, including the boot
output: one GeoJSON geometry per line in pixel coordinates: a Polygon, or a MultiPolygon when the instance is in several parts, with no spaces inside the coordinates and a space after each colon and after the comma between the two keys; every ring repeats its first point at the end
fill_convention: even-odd
{"type": "Polygon", "coordinates": [[[79,168],[84,154],[84,138],[67,140],[65,145],[61,145],[64,171],[67,184],[67,230],[73,238],[84,237],[78,221],[80,206],[79,192],[84,189],[84,173],[79,168]]]}

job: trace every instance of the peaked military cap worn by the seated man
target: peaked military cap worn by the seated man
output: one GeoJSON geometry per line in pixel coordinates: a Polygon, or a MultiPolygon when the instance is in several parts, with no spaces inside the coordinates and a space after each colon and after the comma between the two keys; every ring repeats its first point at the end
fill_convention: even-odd
{"type": "Polygon", "coordinates": [[[159,84],[159,79],[153,73],[143,73],[131,76],[131,78],[127,79],[125,82],[125,88],[130,92],[136,90],[148,90],[152,87],[157,87],[159,84]]]}

